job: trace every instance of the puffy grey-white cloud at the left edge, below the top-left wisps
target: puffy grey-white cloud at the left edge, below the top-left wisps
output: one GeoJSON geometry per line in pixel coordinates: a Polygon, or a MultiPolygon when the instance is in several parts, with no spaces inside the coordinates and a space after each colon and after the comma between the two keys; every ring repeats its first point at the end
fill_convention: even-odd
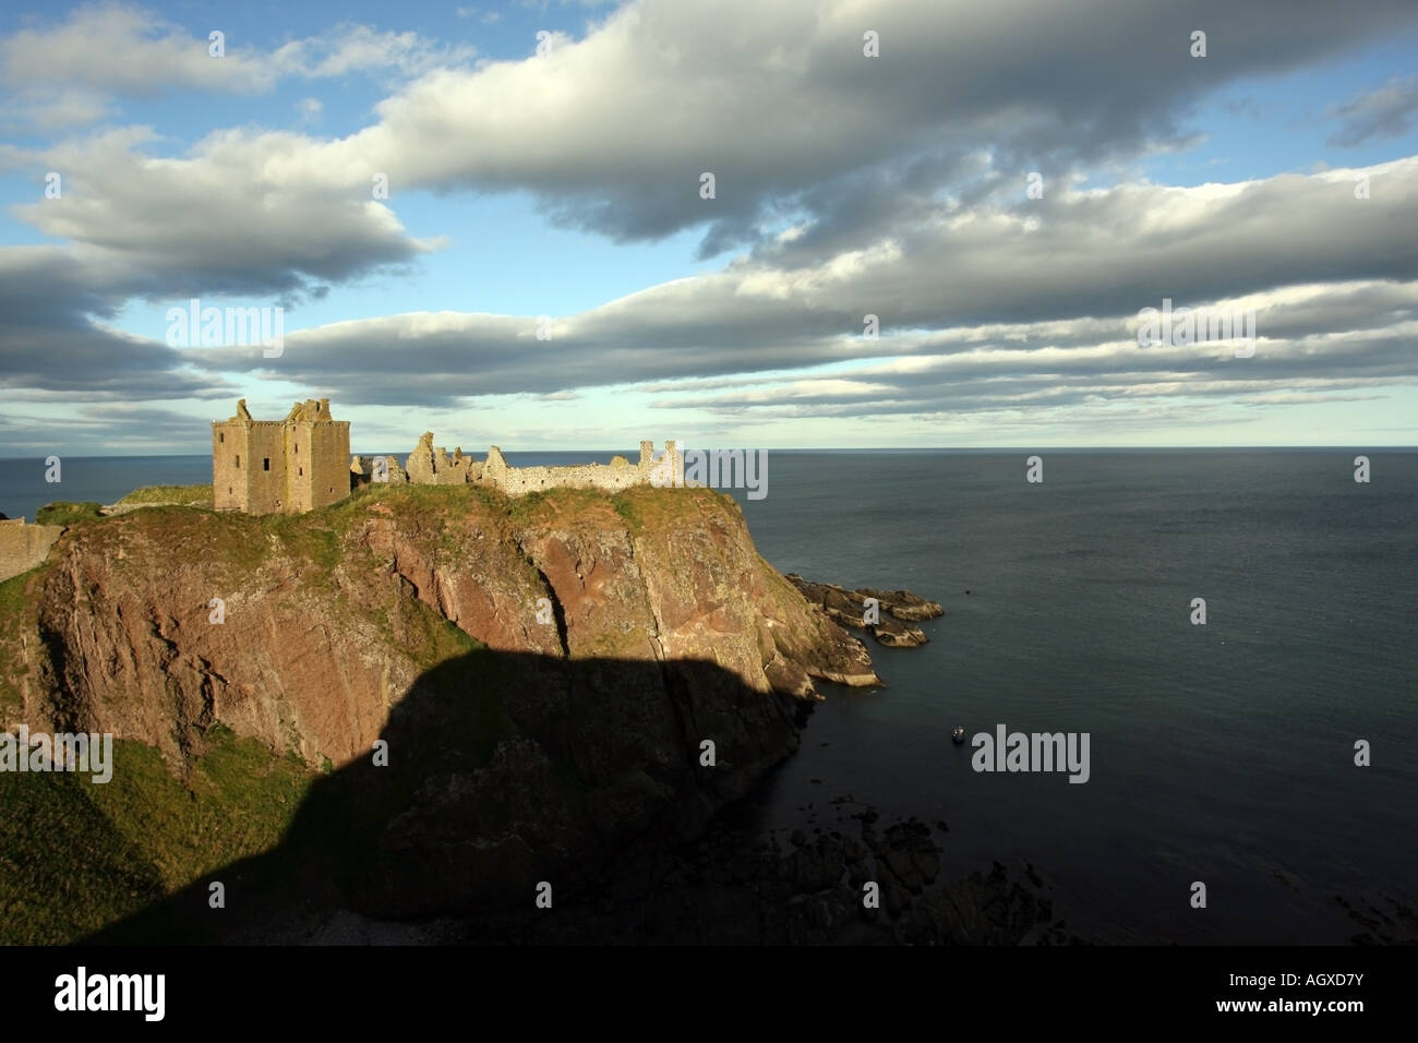
{"type": "Polygon", "coordinates": [[[125,128],[0,153],[10,166],[64,177],[61,199],[13,213],[65,240],[78,261],[122,268],[123,289],[147,298],[316,295],[320,281],[366,275],[440,245],[407,236],[394,211],[372,199],[367,170],[322,162],[303,135],[218,131],[183,159],[140,153],[152,140],[147,128],[125,128]]]}

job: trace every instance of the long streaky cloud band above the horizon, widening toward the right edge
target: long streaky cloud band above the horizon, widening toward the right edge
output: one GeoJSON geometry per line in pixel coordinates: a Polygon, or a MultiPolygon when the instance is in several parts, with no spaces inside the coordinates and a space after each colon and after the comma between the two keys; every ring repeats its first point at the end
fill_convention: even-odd
{"type": "Polygon", "coordinates": [[[556,319],[550,341],[533,316],[420,312],[288,333],[278,362],[224,348],[194,365],[357,403],[641,383],[666,404],[750,413],[774,403],[742,387],[795,380],[770,394],[776,407],[841,414],[1390,385],[1414,376],[1418,159],[1367,173],[1384,206],[1356,200],[1349,170],[1062,190],[811,267],[740,261],[661,284],[556,319]],[[1256,358],[1238,362],[1231,343],[1140,349],[1137,314],[1164,298],[1254,309],[1256,358]],[[862,336],[865,314],[881,339],[862,336]],[[821,372],[848,363],[865,368],[821,372]],[[732,389],[706,394],[723,385],[705,379],[732,389]]]}

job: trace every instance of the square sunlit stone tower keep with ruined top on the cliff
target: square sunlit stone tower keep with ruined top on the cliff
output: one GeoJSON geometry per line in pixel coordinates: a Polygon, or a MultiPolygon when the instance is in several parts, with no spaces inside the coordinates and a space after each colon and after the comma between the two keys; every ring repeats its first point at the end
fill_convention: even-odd
{"type": "Polygon", "coordinates": [[[285,420],[252,420],[247,400],[211,424],[211,497],[218,511],[302,514],[350,492],[350,424],[329,399],[306,399],[285,420]]]}

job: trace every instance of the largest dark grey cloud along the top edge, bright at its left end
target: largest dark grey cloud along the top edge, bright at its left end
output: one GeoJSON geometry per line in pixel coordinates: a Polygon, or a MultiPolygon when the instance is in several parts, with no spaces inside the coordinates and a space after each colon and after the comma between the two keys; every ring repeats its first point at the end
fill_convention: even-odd
{"type": "Polygon", "coordinates": [[[703,227],[709,255],[763,241],[794,210],[814,226],[909,226],[942,194],[968,202],[1025,170],[1058,179],[1174,146],[1208,92],[1418,17],[1398,0],[1370,14],[1276,6],[1276,37],[1229,0],[1185,13],[1102,0],[1086,14],[1004,0],[968,18],[933,0],[642,0],[546,57],[403,87],[347,150],[404,184],[527,190],[559,224],[617,241],[703,227]],[[1214,41],[1204,61],[1187,53],[1194,23],[1214,41]],[[862,55],[865,30],[881,34],[879,58],[862,55]],[[699,196],[703,172],[713,200],[699,196]],[[864,210],[873,186],[903,187],[900,209],[881,192],[864,210]]]}

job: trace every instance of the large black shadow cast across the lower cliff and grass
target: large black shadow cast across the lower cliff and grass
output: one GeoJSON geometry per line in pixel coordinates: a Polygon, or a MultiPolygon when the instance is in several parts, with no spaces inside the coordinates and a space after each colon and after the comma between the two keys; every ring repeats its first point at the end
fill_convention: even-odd
{"type": "Polygon", "coordinates": [[[275,849],[86,941],[309,941],[349,912],[506,939],[542,881],[560,908],[627,849],[696,836],[797,749],[804,712],[712,663],[468,653],[394,705],[387,763],[370,751],[313,782],[275,849]]]}

